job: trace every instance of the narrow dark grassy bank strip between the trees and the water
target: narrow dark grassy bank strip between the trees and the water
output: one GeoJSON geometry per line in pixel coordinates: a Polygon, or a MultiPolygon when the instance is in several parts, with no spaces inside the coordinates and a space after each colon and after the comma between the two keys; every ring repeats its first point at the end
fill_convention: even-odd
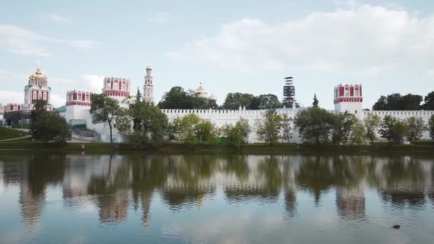
{"type": "MultiPolygon", "coordinates": [[[[128,143],[118,144],[114,148],[111,143],[83,143],[86,152],[95,153],[113,153],[128,151],[143,151],[147,153],[248,153],[248,154],[289,154],[289,153],[339,153],[339,154],[424,154],[434,156],[433,143],[418,143],[413,146],[388,146],[387,144],[378,144],[375,148],[371,146],[313,146],[299,145],[293,143],[278,143],[274,146],[255,143],[248,144],[241,150],[228,148],[227,146],[215,146],[198,144],[194,148],[186,148],[182,144],[166,143],[157,148],[137,149],[128,143]]],[[[38,143],[31,141],[14,141],[0,143],[0,150],[36,150],[36,151],[81,151],[81,143],[68,143],[64,146],[54,144],[38,143]]]]}

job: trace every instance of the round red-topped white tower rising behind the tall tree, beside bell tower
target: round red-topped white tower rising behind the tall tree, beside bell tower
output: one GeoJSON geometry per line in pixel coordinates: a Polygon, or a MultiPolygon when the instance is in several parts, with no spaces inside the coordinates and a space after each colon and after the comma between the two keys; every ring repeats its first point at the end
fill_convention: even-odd
{"type": "Polygon", "coordinates": [[[130,96],[130,80],[121,77],[104,78],[103,93],[122,103],[130,96]]]}

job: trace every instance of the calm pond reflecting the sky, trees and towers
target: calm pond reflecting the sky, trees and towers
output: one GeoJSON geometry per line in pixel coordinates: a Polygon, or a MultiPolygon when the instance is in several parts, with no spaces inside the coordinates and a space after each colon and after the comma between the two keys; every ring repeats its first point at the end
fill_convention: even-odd
{"type": "Polygon", "coordinates": [[[433,185],[423,156],[2,152],[0,243],[432,243],[433,185]]]}

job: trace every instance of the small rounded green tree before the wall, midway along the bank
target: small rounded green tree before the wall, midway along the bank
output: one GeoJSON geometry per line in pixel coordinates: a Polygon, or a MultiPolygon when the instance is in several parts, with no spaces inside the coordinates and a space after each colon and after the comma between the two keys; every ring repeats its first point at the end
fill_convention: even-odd
{"type": "Polygon", "coordinates": [[[251,133],[251,127],[246,118],[240,118],[235,126],[224,125],[221,128],[222,136],[228,139],[228,146],[242,148],[247,143],[248,135],[251,133]]]}

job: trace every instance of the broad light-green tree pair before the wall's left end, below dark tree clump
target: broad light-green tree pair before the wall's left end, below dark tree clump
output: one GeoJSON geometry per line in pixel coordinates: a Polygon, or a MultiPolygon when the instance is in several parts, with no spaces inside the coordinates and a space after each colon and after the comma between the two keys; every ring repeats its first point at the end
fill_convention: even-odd
{"type": "Polygon", "coordinates": [[[193,147],[198,141],[203,143],[215,143],[218,131],[211,121],[201,119],[196,114],[188,114],[173,121],[174,136],[193,147]]]}

